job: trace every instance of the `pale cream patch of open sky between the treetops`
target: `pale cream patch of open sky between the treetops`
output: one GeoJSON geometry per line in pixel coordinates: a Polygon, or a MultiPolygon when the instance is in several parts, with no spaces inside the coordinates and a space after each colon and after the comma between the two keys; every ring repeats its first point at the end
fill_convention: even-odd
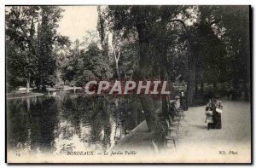
{"type": "Polygon", "coordinates": [[[60,21],[58,32],[67,36],[71,41],[79,39],[81,42],[86,31],[96,31],[96,6],[61,6],[63,18],[60,21]]]}

